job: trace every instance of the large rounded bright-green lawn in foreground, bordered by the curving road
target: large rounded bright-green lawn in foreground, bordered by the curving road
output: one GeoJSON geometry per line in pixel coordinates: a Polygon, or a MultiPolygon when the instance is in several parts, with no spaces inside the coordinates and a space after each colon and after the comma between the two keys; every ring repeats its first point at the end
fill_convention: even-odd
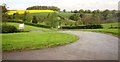
{"type": "Polygon", "coordinates": [[[75,42],[79,38],[72,34],[57,32],[28,32],[2,34],[3,51],[48,48],[75,42]]]}

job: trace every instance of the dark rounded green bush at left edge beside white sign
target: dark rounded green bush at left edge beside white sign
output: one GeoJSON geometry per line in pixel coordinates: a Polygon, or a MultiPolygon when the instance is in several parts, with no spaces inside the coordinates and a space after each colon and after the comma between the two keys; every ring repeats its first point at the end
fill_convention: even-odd
{"type": "Polygon", "coordinates": [[[2,33],[14,33],[18,31],[19,30],[15,26],[7,25],[7,24],[2,25],[2,33]]]}

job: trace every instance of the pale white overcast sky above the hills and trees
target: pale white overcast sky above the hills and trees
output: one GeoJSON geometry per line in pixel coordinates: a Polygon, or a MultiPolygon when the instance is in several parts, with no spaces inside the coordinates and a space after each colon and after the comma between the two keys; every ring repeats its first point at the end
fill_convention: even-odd
{"type": "Polygon", "coordinates": [[[10,10],[25,10],[30,6],[57,6],[61,10],[79,10],[79,9],[118,9],[120,0],[0,0],[0,5],[7,4],[10,10]]]}

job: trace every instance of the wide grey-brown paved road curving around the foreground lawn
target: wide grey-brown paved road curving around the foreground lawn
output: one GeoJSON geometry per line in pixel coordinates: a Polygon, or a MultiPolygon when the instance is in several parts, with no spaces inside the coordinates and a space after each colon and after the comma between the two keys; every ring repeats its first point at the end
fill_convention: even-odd
{"type": "Polygon", "coordinates": [[[3,52],[3,60],[118,60],[117,37],[93,32],[62,32],[75,34],[80,39],[54,48],[3,52]]]}

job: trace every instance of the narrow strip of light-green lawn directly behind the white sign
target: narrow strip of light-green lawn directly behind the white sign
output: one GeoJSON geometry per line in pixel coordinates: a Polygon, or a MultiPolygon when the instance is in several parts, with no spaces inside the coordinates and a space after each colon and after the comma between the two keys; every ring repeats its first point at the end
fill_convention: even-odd
{"type": "MultiPolygon", "coordinates": [[[[14,23],[14,22],[7,22],[9,25],[14,25],[19,29],[19,23],[14,23]]],[[[47,28],[42,28],[42,27],[35,27],[35,26],[30,26],[30,25],[25,25],[25,31],[29,30],[43,30],[43,31],[48,31],[49,29],[47,28]]]]}

